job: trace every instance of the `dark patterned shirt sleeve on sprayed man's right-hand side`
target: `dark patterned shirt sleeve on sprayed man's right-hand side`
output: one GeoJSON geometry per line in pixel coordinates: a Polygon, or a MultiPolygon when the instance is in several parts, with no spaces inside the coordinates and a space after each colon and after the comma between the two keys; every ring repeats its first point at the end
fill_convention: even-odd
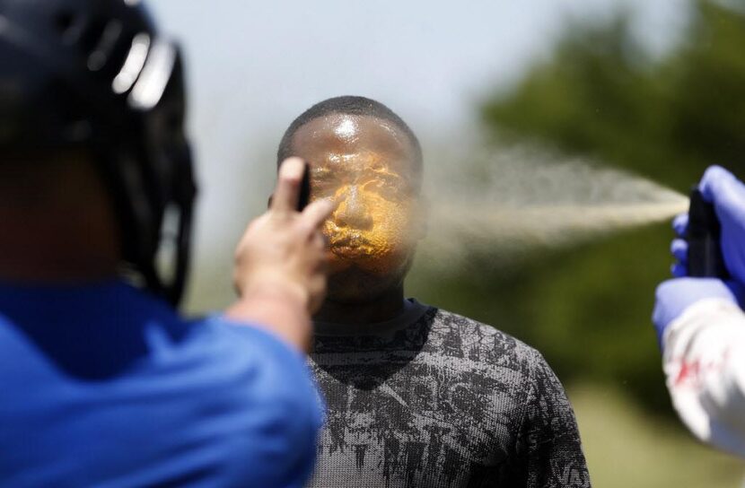
{"type": "Polygon", "coordinates": [[[574,411],[564,388],[539,353],[531,371],[520,430],[529,488],[590,486],[574,411]]]}

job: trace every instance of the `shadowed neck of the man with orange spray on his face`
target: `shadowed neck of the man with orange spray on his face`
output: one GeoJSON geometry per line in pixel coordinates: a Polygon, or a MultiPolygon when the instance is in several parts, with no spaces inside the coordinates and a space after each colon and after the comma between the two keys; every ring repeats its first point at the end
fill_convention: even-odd
{"type": "Polygon", "coordinates": [[[371,301],[334,301],[327,299],[314,320],[334,324],[373,324],[398,317],[404,311],[403,286],[393,288],[371,301]]]}

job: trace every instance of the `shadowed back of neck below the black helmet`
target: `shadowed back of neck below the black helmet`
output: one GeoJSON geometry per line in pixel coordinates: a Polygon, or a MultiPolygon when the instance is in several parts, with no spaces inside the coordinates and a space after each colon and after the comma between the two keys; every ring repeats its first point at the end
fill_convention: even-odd
{"type": "Polygon", "coordinates": [[[86,153],[0,164],[0,279],[91,283],[117,275],[114,205],[86,153]]]}

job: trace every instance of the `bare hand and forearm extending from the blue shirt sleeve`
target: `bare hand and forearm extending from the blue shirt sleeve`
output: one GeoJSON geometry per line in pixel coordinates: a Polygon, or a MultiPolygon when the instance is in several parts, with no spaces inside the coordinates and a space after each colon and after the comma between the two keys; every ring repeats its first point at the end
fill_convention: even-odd
{"type": "Polygon", "coordinates": [[[279,169],[267,213],[249,224],[235,252],[233,281],[240,299],[228,318],[262,327],[301,351],[311,340],[311,315],[326,295],[326,241],[320,226],[333,205],[317,200],[302,213],[304,162],[289,158],[279,169]]]}

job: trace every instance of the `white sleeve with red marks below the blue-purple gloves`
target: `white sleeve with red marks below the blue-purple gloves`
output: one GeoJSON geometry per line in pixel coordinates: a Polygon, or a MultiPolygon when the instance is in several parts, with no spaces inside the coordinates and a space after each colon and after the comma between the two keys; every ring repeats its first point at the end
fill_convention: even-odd
{"type": "Polygon", "coordinates": [[[698,439],[745,457],[745,314],[732,301],[697,301],[662,341],[680,419],[698,439]]]}

